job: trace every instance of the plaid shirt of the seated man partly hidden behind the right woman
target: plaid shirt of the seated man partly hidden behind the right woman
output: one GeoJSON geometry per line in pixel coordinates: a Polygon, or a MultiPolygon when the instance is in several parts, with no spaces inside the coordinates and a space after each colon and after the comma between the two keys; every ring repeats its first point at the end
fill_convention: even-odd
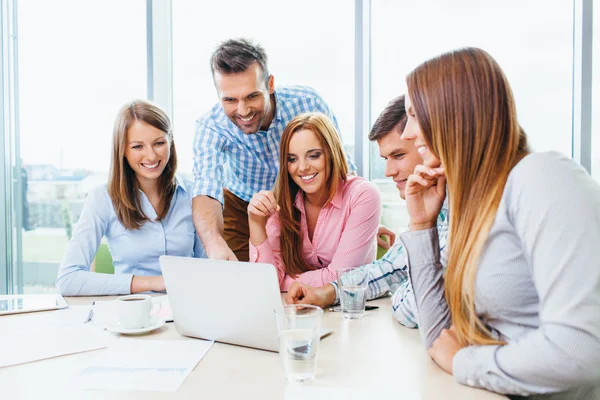
{"type": "MultiPolygon", "coordinates": [[[[448,199],[444,202],[437,220],[438,237],[440,244],[441,262],[444,267],[447,263],[446,241],[448,239],[448,199]]],[[[367,299],[372,300],[392,292],[392,310],[394,316],[402,325],[409,328],[417,327],[416,301],[410,279],[408,279],[408,257],[406,249],[400,240],[381,257],[371,264],[358,267],[369,274],[367,299]]],[[[344,275],[342,284],[352,284],[353,279],[359,279],[360,274],[353,275],[352,271],[344,275]]],[[[336,303],[339,302],[337,283],[331,283],[336,288],[336,303]]]]}

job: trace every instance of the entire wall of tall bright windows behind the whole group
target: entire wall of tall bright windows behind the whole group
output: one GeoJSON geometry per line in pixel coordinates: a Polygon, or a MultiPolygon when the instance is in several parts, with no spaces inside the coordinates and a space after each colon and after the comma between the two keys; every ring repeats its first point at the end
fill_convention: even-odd
{"type": "MultiPolygon", "coordinates": [[[[492,54],[508,76],[532,148],[572,154],[573,11],[579,0],[364,1],[362,5],[370,4],[365,16],[371,19],[363,26],[371,38],[368,59],[363,60],[371,74],[365,82],[371,123],[393,97],[405,92],[405,76],[417,64],[451,49],[477,46],[492,54]]],[[[86,194],[107,179],[116,112],[131,99],[146,98],[148,78],[160,97],[155,101],[170,109],[173,100],[178,172],[191,176],[195,121],[218,101],[209,58],[228,38],[260,42],[276,86],[315,88],[337,115],[345,144],[362,151],[365,143],[354,142],[361,129],[354,126],[355,32],[361,28],[355,25],[357,5],[361,2],[0,2],[0,78],[3,89],[11,91],[0,96],[5,145],[0,150],[0,183],[8,182],[4,195],[10,210],[0,207],[0,250],[11,260],[6,268],[12,272],[6,274],[6,286],[26,293],[54,290],[86,194]],[[12,18],[7,4],[18,6],[14,36],[7,34],[6,21],[12,18]],[[147,4],[156,9],[147,13],[147,4]],[[155,31],[147,42],[148,16],[155,31]],[[172,43],[171,32],[165,32],[169,27],[172,43]],[[153,51],[147,54],[149,43],[153,51]]],[[[598,8],[593,19],[597,40],[591,164],[600,182],[598,8]]],[[[369,177],[383,194],[383,222],[400,231],[408,224],[407,214],[395,186],[383,176],[384,162],[374,144],[367,162],[369,177]]],[[[6,290],[3,268],[0,263],[0,293],[6,290]]]]}

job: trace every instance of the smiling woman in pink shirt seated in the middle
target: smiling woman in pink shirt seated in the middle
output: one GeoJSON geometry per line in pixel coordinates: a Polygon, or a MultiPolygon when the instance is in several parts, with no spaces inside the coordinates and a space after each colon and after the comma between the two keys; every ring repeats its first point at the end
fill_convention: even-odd
{"type": "Polygon", "coordinates": [[[375,260],[381,197],[371,182],[348,176],[343,145],[321,113],[294,118],[281,137],[274,191],[248,205],[250,261],[273,264],[279,287],[323,286],[336,270],[375,260]]]}

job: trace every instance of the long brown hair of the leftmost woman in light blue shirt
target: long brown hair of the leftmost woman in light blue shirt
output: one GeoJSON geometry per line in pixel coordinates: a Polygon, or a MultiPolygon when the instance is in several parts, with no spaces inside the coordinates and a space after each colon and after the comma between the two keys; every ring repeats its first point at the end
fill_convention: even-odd
{"type": "Polygon", "coordinates": [[[158,178],[160,206],[156,210],[157,221],[162,221],[167,216],[177,188],[175,179],[177,152],[169,117],[160,107],[146,100],[134,100],[125,104],[117,115],[113,129],[108,195],[112,200],[117,218],[125,228],[130,230],[139,229],[146,221],[150,220],[142,209],[140,187],[135,172],[125,158],[127,132],[135,121],[143,121],[163,131],[170,146],[169,161],[158,178]]]}

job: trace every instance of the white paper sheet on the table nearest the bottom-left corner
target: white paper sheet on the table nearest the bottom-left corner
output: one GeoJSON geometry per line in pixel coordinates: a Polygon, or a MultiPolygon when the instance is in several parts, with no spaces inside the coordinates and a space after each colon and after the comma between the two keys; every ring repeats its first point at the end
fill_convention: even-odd
{"type": "Polygon", "coordinates": [[[114,340],[91,325],[46,327],[0,336],[0,367],[108,347],[114,340]]]}

